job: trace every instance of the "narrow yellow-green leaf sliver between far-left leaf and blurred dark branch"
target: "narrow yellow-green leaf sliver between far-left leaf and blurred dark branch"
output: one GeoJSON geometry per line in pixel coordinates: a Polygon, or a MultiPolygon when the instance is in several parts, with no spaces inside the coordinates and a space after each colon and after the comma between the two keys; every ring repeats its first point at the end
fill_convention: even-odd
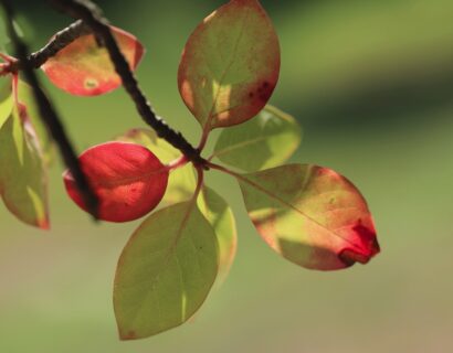
{"type": "Polygon", "coordinates": [[[23,81],[19,81],[18,98],[21,104],[27,106],[29,119],[38,136],[38,143],[41,148],[42,157],[44,162],[50,164],[55,159],[55,146],[48,131],[48,128],[43,124],[40,109],[34,99],[33,90],[23,81]]]}

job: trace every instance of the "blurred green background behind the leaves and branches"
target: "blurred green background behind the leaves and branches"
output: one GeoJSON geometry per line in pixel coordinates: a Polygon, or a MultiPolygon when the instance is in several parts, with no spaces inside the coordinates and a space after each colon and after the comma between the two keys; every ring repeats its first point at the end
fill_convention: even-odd
{"type": "MultiPolygon", "coordinates": [[[[179,57],[192,29],[223,2],[99,1],[147,46],[141,85],[193,142],[200,131],[179,98],[179,57]]],[[[230,277],[190,323],[122,343],[112,284],[136,224],[93,224],[65,196],[59,164],[50,233],[1,206],[0,352],[453,351],[453,2],[262,2],[283,53],[272,103],[305,130],[294,161],[330,167],[360,188],[382,253],[340,272],[297,268],[256,235],[234,182],[213,174],[209,183],[239,222],[230,277]]],[[[35,50],[69,23],[44,2],[13,3],[35,50]]],[[[89,99],[49,92],[78,150],[143,126],[123,89],[89,99]]]]}

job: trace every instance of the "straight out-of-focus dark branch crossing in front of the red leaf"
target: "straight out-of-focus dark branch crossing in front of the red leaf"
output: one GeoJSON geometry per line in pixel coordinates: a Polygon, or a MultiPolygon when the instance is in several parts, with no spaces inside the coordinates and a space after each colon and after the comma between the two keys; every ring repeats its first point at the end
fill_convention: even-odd
{"type": "Polygon", "coordinates": [[[91,189],[88,181],[85,178],[85,174],[83,173],[81,169],[77,156],[74,152],[74,149],[66,136],[64,127],[62,122],[60,121],[60,118],[55,109],[53,108],[51,101],[49,100],[49,98],[45,96],[45,94],[41,89],[41,85],[33,71],[33,66],[31,66],[30,62],[28,61],[29,51],[28,51],[27,44],[19,38],[14,29],[13,10],[8,0],[1,0],[1,3],[3,6],[4,13],[7,17],[7,25],[8,25],[9,35],[11,38],[12,43],[14,44],[15,55],[22,62],[23,74],[28,83],[32,87],[33,95],[36,100],[39,111],[41,114],[43,122],[48,127],[48,130],[50,131],[53,140],[59,146],[60,153],[66,167],[70,169],[75,180],[75,183],[84,197],[87,208],[89,210],[91,214],[94,217],[96,217],[97,208],[98,208],[98,200],[95,193],[93,192],[93,190],[91,189]]]}

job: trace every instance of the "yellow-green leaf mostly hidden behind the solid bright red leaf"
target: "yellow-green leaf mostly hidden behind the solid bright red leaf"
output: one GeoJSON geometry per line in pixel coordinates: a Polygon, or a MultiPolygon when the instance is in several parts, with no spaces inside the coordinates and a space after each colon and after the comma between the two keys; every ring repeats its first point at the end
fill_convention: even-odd
{"type": "MultiPolygon", "coordinates": [[[[157,156],[164,163],[170,163],[181,156],[166,140],[157,137],[149,129],[131,129],[116,138],[117,141],[143,145],[157,156]]],[[[191,163],[172,170],[168,180],[167,192],[164,195],[164,204],[173,204],[189,200],[196,190],[197,179],[191,163]]]]}

